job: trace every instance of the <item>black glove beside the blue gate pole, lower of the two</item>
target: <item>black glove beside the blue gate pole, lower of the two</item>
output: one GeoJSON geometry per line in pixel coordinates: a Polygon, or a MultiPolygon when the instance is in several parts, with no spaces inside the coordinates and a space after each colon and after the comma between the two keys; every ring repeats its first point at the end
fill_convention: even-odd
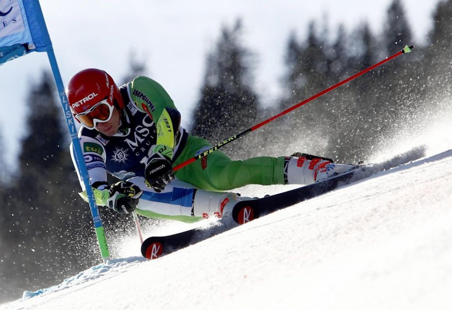
{"type": "Polygon", "coordinates": [[[128,181],[107,186],[110,197],[106,201],[106,206],[122,214],[133,212],[138,204],[138,198],[143,194],[135,184],[128,181]]]}

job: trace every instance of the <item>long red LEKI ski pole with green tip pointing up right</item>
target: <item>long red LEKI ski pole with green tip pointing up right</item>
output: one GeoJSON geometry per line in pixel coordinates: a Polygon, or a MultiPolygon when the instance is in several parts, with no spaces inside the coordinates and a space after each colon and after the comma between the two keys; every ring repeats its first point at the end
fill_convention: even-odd
{"type": "Polygon", "coordinates": [[[269,118],[269,119],[267,119],[267,120],[265,120],[265,121],[261,121],[260,123],[254,125],[253,127],[248,128],[248,129],[242,131],[240,134],[235,135],[235,136],[232,136],[232,137],[228,138],[227,140],[224,140],[223,142],[220,142],[220,143],[218,143],[217,145],[212,146],[210,149],[206,150],[205,152],[203,152],[203,153],[201,153],[201,154],[199,154],[199,155],[196,155],[196,156],[194,156],[194,157],[192,157],[192,158],[190,158],[190,159],[184,161],[184,162],[181,163],[181,164],[178,164],[176,167],[173,168],[173,171],[177,171],[177,170],[179,170],[179,169],[181,169],[181,168],[187,166],[188,164],[191,164],[191,163],[194,162],[195,160],[200,159],[200,158],[202,158],[202,157],[205,157],[205,156],[209,155],[210,153],[212,153],[212,152],[218,150],[219,148],[225,146],[226,144],[229,144],[229,143],[231,143],[231,142],[234,141],[234,140],[237,140],[237,139],[242,138],[244,135],[249,134],[249,133],[252,132],[252,131],[255,131],[256,129],[262,127],[263,125],[268,124],[269,122],[276,120],[277,118],[279,118],[279,117],[281,117],[281,116],[283,116],[283,115],[285,115],[285,114],[287,114],[287,113],[289,113],[289,112],[291,112],[291,111],[293,111],[293,110],[299,108],[300,106],[302,106],[302,105],[304,105],[304,104],[306,104],[306,103],[308,103],[308,102],[310,102],[310,101],[313,101],[314,99],[319,98],[320,96],[323,96],[323,95],[326,94],[327,92],[330,92],[331,90],[333,90],[333,89],[335,89],[335,88],[337,88],[337,87],[339,87],[339,86],[342,86],[342,85],[344,85],[345,83],[350,82],[351,80],[357,78],[358,76],[361,76],[361,75],[363,75],[364,73],[369,72],[370,70],[375,69],[375,68],[377,68],[377,67],[383,65],[384,63],[388,62],[389,60],[392,60],[392,59],[394,59],[394,58],[396,58],[396,57],[398,57],[398,56],[400,56],[400,55],[402,55],[402,54],[404,54],[404,53],[409,53],[409,52],[411,52],[411,50],[412,50],[413,48],[414,48],[414,46],[408,46],[408,45],[405,46],[404,49],[403,49],[402,51],[397,52],[397,53],[395,53],[394,55],[387,57],[386,59],[380,61],[379,63],[376,63],[375,65],[372,65],[372,66],[370,66],[370,67],[368,67],[368,68],[366,68],[366,69],[364,69],[364,70],[362,70],[362,71],[360,71],[360,72],[358,72],[358,73],[352,75],[351,77],[349,77],[349,78],[347,78],[347,79],[345,79],[345,80],[343,80],[343,81],[341,81],[341,82],[339,82],[339,83],[337,83],[337,84],[335,84],[335,85],[333,85],[333,86],[330,86],[330,87],[324,89],[323,91],[321,91],[321,92],[315,94],[314,96],[309,97],[309,98],[307,98],[306,100],[304,100],[304,101],[302,101],[302,102],[300,102],[300,103],[297,103],[297,104],[291,106],[290,108],[288,108],[288,109],[286,109],[286,110],[284,110],[284,111],[282,111],[282,112],[280,112],[280,113],[278,113],[278,114],[272,116],[271,118],[269,118]]]}

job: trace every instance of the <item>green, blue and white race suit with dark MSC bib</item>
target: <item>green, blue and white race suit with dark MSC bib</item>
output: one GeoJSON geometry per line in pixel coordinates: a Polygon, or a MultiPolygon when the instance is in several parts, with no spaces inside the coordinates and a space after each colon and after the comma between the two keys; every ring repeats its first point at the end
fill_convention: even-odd
{"type": "MultiPolygon", "coordinates": [[[[124,108],[121,124],[113,137],[81,127],[79,138],[91,184],[107,180],[107,172],[129,180],[144,190],[136,212],[145,217],[195,222],[193,212],[198,190],[222,192],[248,184],[285,184],[285,157],[255,157],[231,160],[214,151],[175,172],[176,180],[156,193],[145,187],[144,171],[156,145],[168,147],[165,154],[173,167],[211,147],[203,138],[190,135],[175,120],[176,106],[156,81],[140,76],[119,87],[124,108]]],[[[177,110],[176,110],[177,111],[177,110]]],[[[72,151],[72,147],[71,147],[72,151]]],[[[73,156],[74,158],[74,156],[73,156]]],[[[79,175],[80,178],[80,175],[79,175]]],[[[83,182],[81,187],[84,190],[83,182]]],[[[95,189],[95,196],[99,190],[95,189]]],[[[101,199],[97,199],[101,205],[101,199]]]]}

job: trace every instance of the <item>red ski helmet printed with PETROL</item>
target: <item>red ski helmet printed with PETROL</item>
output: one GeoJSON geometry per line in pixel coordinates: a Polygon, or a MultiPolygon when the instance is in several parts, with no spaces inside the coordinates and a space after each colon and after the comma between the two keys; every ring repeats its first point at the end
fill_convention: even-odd
{"type": "MultiPolygon", "coordinates": [[[[84,69],[75,74],[67,84],[67,100],[74,117],[88,111],[101,101],[118,109],[124,107],[118,86],[104,70],[84,69]]],[[[77,121],[80,120],[76,117],[77,121]]]]}

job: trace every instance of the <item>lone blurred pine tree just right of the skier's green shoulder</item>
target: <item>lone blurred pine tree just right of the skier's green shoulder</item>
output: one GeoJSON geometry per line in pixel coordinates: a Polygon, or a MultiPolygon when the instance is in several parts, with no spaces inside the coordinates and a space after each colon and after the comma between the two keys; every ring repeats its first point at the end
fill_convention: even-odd
{"type": "MultiPolygon", "coordinates": [[[[252,88],[252,53],[241,44],[242,23],[223,27],[207,57],[201,98],[194,111],[192,133],[220,142],[254,124],[258,96],[252,88]]],[[[236,143],[237,150],[240,143],[236,143]]]]}

